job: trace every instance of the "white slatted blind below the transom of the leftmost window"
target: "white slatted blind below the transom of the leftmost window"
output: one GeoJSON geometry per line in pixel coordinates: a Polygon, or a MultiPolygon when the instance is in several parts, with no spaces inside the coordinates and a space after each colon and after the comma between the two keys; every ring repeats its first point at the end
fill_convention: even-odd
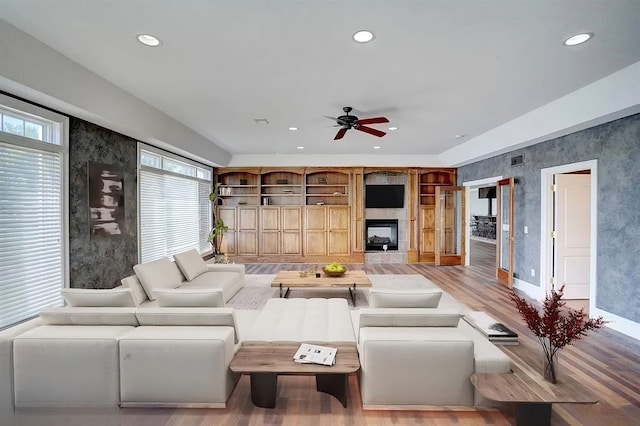
{"type": "Polygon", "coordinates": [[[62,305],[60,152],[0,142],[0,329],[62,305]]]}

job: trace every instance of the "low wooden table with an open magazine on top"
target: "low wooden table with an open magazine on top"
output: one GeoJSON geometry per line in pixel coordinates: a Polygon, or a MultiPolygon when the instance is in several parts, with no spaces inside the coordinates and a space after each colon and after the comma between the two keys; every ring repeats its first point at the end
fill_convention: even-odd
{"type": "Polygon", "coordinates": [[[231,361],[231,371],[251,375],[251,401],[263,408],[274,408],[278,375],[316,376],[316,389],[333,395],[347,407],[348,375],[360,369],[355,345],[327,345],[338,348],[332,366],[298,364],[293,355],[300,345],[243,346],[231,361]]]}

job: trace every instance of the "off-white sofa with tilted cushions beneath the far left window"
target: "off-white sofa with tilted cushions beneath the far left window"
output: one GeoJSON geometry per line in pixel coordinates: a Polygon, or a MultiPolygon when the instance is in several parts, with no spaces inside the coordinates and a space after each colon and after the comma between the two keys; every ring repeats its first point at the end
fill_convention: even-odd
{"type": "Polygon", "coordinates": [[[122,284],[134,294],[136,305],[164,307],[224,306],[244,286],[245,268],[237,264],[205,262],[196,250],[135,265],[122,284]],[[222,300],[216,293],[222,292],[222,300]]]}

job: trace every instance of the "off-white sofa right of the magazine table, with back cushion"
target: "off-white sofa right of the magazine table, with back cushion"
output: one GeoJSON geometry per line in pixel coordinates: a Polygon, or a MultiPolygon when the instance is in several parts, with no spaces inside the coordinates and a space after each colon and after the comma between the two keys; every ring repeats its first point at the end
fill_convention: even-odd
{"type": "Polygon", "coordinates": [[[439,307],[431,293],[372,290],[374,307],[352,311],[364,408],[495,405],[470,376],[508,373],[510,358],[461,320],[464,307],[455,299],[442,292],[439,307]],[[415,307],[416,300],[429,307],[415,307]]]}

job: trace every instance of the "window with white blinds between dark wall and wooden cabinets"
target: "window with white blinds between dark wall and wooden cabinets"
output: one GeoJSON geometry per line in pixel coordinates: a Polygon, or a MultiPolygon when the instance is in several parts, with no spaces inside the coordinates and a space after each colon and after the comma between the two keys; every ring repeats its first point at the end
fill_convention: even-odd
{"type": "Polygon", "coordinates": [[[140,262],[211,250],[211,167],[144,144],[138,159],[140,262]]]}

